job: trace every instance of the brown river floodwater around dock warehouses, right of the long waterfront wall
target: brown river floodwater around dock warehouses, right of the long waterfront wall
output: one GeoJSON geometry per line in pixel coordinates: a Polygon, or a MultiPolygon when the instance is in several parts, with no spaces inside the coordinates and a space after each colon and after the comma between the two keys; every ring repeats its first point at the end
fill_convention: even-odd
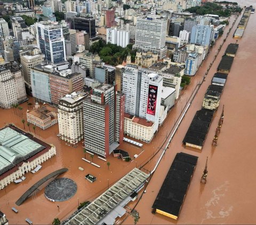
{"type": "MultiPolygon", "coordinates": [[[[239,1],[241,5],[253,5],[255,1],[239,1]]],[[[241,16],[239,16],[236,24],[241,16]]],[[[233,20],[233,18],[231,18],[233,20]]],[[[249,23],[242,39],[238,40],[239,48],[233,66],[228,75],[226,86],[221,96],[220,107],[214,115],[209,134],[207,135],[202,151],[182,146],[182,139],[195,112],[201,109],[203,96],[211,78],[221,60],[221,56],[229,43],[235,43],[232,38],[236,26],[231,30],[223,45],[220,54],[212,65],[204,84],[199,89],[196,98],[191,104],[185,119],[175,134],[170,148],[159,164],[156,172],[147,186],[146,194],[135,209],[140,214],[138,224],[255,224],[256,206],[256,154],[255,154],[255,127],[256,127],[256,18],[251,14],[249,23]],[[218,146],[212,147],[212,139],[217,128],[222,105],[225,104],[225,118],[218,139],[218,146]],[[151,206],[161,188],[167,171],[178,152],[198,156],[198,163],[191,180],[188,193],[183,203],[179,220],[151,213],[151,206]],[[204,165],[208,160],[207,184],[201,184],[200,179],[204,165]]],[[[227,31],[227,29],[226,29],[227,31]]],[[[218,44],[218,43],[217,43],[218,44]]],[[[200,77],[208,68],[212,53],[198,70],[196,77],[200,77]]],[[[195,77],[195,79],[197,79],[195,77]]],[[[129,216],[124,224],[133,223],[129,216]]]]}

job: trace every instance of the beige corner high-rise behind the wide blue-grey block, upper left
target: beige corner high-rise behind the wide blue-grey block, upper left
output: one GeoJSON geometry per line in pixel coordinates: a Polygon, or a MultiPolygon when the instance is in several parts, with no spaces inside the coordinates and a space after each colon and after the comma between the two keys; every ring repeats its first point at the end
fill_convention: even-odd
{"type": "Polygon", "coordinates": [[[25,80],[25,83],[30,86],[31,84],[31,68],[34,68],[35,65],[38,65],[44,61],[44,54],[36,54],[36,55],[22,55],[20,57],[21,65],[22,65],[22,73],[25,80]]]}

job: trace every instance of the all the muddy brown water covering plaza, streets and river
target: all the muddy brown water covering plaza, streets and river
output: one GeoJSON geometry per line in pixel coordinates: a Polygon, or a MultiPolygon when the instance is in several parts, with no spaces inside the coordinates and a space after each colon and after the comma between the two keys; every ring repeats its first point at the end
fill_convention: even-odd
{"type": "MultiPolygon", "coordinates": [[[[242,4],[242,6],[252,4],[255,7],[253,0],[240,0],[238,4],[242,4]]],[[[256,78],[254,75],[256,71],[256,64],[254,62],[256,57],[256,43],[254,41],[256,37],[256,18],[254,14],[250,16],[243,38],[238,40],[239,48],[237,55],[235,56],[231,71],[228,74],[226,86],[221,96],[220,107],[214,115],[202,151],[189,147],[185,148],[185,146],[182,145],[182,140],[185,137],[195,112],[201,109],[205,91],[211,84],[212,77],[217,70],[221,56],[225,53],[229,43],[236,43],[236,40],[233,39],[232,36],[241,16],[242,14],[239,15],[239,18],[209,70],[205,81],[198,90],[193,103],[172,139],[169,149],[167,149],[161,163],[151,178],[147,186],[147,192],[143,194],[142,199],[135,207],[140,214],[138,224],[256,223],[256,219],[253,217],[255,211],[254,199],[256,198],[254,191],[256,185],[256,179],[254,178],[254,171],[256,170],[256,156],[254,153],[254,146],[256,144],[254,138],[256,126],[256,104],[254,98],[256,95],[256,78]],[[219,135],[218,145],[212,147],[212,139],[215,129],[217,128],[223,104],[225,104],[223,126],[219,135]],[[175,221],[163,215],[152,214],[151,206],[178,152],[196,155],[198,156],[198,162],[179,215],[179,220],[175,221]],[[200,183],[200,179],[207,156],[209,157],[209,174],[207,184],[204,185],[200,183]]],[[[187,102],[190,101],[189,97],[197,84],[202,81],[206,70],[217,54],[219,46],[222,44],[223,39],[226,38],[226,34],[235,19],[235,15],[230,17],[229,26],[226,27],[222,37],[220,37],[217,43],[212,47],[209,56],[203,62],[202,67],[199,68],[196,76],[191,79],[191,84],[185,88],[185,90],[182,90],[182,96],[180,96],[173,109],[167,115],[163,126],[159,128],[153,141],[150,144],[143,143],[143,147],[141,148],[128,143],[124,143],[119,147],[129,152],[132,161],[124,162],[110,155],[107,158],[107,162],[110,162],[108,169],[107,162],[102,161],[95,155],[93,162],[101,166],[101,168],[97,168],[82,160],[82,157],[86,157],[86,159],[90,157],[88,153],[85,155],[82,142],[72,147],[58,138],[58,124],[55,124],[47,130],[41,130],[37,127],[35,129],[36,137],[46,143],[53,144],[56,147],[57,155],[44,162],[42,169],[35,174],[30,172],[26,173],[25,177],[27,179],[20,184],[12,183],[3,190],[0,190],[0,209],[6,214],[9,223],[24,224],[25,219],[29,218],[34,224],[51,224],[54,218],[59,218],[60,220],[66,219],[77,209],[79,203],[93,201],[93,199],[102,194],[108,187],[115,184],[116,181],[130,172],[135,166],[140,168],[140,166],[148,162],[143,166],[142,170],[153,170],[159,155],[163,151],[161,146],[166,142],[166,138],[169,136],[174,122],[178,120],[182,109],[186,106],[187,102]],[[159,148],[159,153],[151,159],[151,156],[155,154],[159,148]],[[136,159],[133,157],[135,154],[139,155],[136,159]],[[79,166],[84,168],[84,171],[78,170],[79,166]],[[44,196],[43,189],[28,198],[22,205],[15,205],[17,199],[28,188],[47,174],[61,168],[67,168],[68,171],[61,174],[60,177],[70,178],[76,182],[77,193],[74,197],[65,202],[50,202],[44,196]],[[97,177],[97,181],[93,182],[93,184],[84,178],[88,173],[97,177]],[[12,207],[19,210],[19,213],[16,214],[13,212],[11,210],[12,207]]],[[[30,98],[29,102],[34,105],[33,98],[30,98]]],[[[21,106],[23,107],[22,116],[15,115],[13,109],[1,109],[0,127],[3,127],[6,123],[13,122],[15,126],[23,129],[21,120],[26,120],[26,110],[29,106],[27,103],[23,103],[21,106]]],[[[30,106],[30,109],[31,107],[32,106],[30,106]]],[[[26,122],[25,130],[29,131],[26,122]]],[[[30,130],[34,134],[34,130],[31,129],[31,126],[30,130]]],[[[90,161],[91,160],[90,158],[90,161]]],[[[127,215],[126,213],[126,216],[127,215]]],[[[132,224],[133,218],[128,216],[123,223],[132,224]]]]}

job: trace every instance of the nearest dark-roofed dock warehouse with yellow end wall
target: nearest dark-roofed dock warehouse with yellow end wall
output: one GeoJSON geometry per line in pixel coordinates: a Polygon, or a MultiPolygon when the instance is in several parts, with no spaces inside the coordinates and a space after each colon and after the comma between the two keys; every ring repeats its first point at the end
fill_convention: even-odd
{"type": "Polygon", "coordinates": [[[186,153],[176,154],[152,206],[153,213],[178,219],[197,159],[197,156],[186,153]]]}

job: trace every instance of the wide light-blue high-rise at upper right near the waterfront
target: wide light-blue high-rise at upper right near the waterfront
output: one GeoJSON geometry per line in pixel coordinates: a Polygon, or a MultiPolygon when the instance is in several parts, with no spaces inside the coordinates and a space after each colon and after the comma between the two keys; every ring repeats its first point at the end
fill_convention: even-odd
{"type": "Polygon", "coordinates": [[[190,43],[209,46],[211,44],[213,28],[205,25],[197,25],[192,28],[190,43]]]}

